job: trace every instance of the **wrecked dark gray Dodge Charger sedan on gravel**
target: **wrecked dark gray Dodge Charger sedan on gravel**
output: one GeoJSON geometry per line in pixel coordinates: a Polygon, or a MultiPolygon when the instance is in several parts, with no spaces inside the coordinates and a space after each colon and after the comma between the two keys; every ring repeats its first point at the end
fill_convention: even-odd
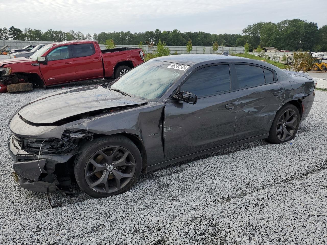
{"type": "Polygon", "coordinates": [[[9,120],[23,188],[93,197],[131,188],[141,171],[245,142],[292,140],[310,112],[314,81],[225,55],[149,60],[110,84],[47,94],[9,120]]]}

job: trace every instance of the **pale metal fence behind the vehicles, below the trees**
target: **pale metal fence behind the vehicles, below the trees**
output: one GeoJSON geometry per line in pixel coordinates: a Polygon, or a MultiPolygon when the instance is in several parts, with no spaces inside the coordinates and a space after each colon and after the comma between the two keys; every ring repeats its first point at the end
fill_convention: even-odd
{"type": "MultiPolygon", "coordinates": [[[[49,41],[16,41],[16,40],[0,40],[0,47],[3,47],[5,45],[9,45],[10,49],[14,48],[23,48],[27,45],[31,44],[41,44],[41,43],[54,43],[49,41]]],[[[106,49],[106,45],[99,44],[101,49],[106,49]]],[[[117,45],[117,48],[122,47],[132,47],[132,48],[138,48],[138,45],[117,45]]],[[[177,51],[178,54],[187,54],[186,52],[186,46],[168,46],[170,49],[170,54],[174,54],[175,51],[177,51]]],[[[148,49],[147,45],[143,46],[143,50],[145,53],[149,53],[150,50],[148,49]]],[[[157,50],[157,46],[153,46],[153,50],[157,50]]],[[[235,54],[243,54],[244,53],[244,47],[225,47],[225,46],[219,46],[217,53],[222,53],[224,51],[229,51],[230,53],[235,54]]],[[[212,47],[203,47],[203,46],[193,46],[192,51],[190,54],[212,54],[215,53],[212,49],[212,47]],[[203,50],[205,48],[205,51],[203,50]]]]}

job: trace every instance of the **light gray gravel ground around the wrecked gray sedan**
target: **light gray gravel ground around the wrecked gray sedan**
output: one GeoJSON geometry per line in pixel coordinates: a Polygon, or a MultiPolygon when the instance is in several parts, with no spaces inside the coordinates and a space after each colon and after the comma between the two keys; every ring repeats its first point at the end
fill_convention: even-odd
{"type": "Polygon", "coordinates": [[[114,197],[52,193],[61,206],[51,209],[14,182],[6,142],[9,116],[55,90],[0,94],[0,244],[327,243],[327,92],[316,91],[291,144],[260,140],[174,164],[114,197]]]}

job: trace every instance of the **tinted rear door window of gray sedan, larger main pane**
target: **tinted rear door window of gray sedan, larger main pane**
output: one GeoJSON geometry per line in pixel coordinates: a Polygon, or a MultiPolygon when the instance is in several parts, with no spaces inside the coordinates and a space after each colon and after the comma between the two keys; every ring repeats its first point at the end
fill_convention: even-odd
{"type": "Polygon", "coordinates": [[[238,87],[246,88],[265,83],[264,71],[261,67],[250,65],[235,65],[238,87]]]}

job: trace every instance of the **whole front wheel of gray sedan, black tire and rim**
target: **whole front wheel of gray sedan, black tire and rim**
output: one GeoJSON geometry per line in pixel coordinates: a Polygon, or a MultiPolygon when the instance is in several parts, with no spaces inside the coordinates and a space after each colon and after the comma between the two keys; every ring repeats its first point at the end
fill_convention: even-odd
{"type": "Polygon", "coordinates": [[[74,163],[76,182],[84,192],[92,197],[102,198],[124,193],[135,184],[141,174],[142,157],[140,151],[127,137],[120,135],[101,137],[83,145],[80,152],[74,163]],[[108,155],[110,150],[112,150],[111,155],[108,155]],[[123,150],[127,150],[130,154],[123,150]],[[105,156],[99,154],[100,151],[105,156]],[[126,157],[125,154],[128,156],[126,157]],[[123,156],[119,159],[119,155],[123,156]],[[119,162],[119,160],[124,156],[124,159],[129,158],[129,163],[125,164],[123,169],[120,164],[124,164],[126,161],[119,162]],[[109,159],[110,157],[112,160],[109,159]],[[112,161],[112,165],[108,164],[109,160],[112,161]],[[118,167],[110,169],[114,166],[118,167]],[[131,174],[128,174],[129,172],[131,174]],[[121,177],[123,175],[130,175],[130,177],[121,177]],[[92,185],[94,186],[91,187],[92,185]],[[121,188],[117,188],[118,185],[121,188]]]}

